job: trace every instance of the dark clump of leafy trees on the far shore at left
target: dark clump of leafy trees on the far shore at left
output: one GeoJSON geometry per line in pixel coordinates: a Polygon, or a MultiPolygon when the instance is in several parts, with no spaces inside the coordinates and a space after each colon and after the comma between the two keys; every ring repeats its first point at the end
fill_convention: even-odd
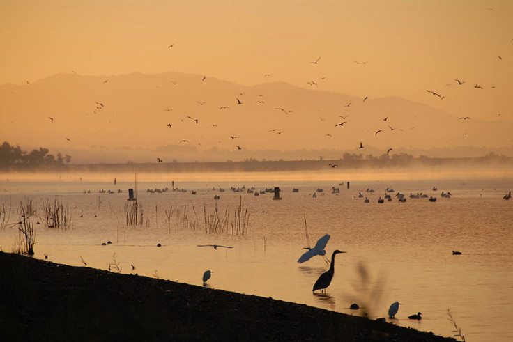
{"type": "Polygon", "coordinates": [[[48,148],[40,147],[39,150],[31,152],[24,151],[20,146],[11,146],[4,141],[0,146],[0,166],[12,165],[63,165],[71,162],[70,155],[49,154],[48,148]]]}

